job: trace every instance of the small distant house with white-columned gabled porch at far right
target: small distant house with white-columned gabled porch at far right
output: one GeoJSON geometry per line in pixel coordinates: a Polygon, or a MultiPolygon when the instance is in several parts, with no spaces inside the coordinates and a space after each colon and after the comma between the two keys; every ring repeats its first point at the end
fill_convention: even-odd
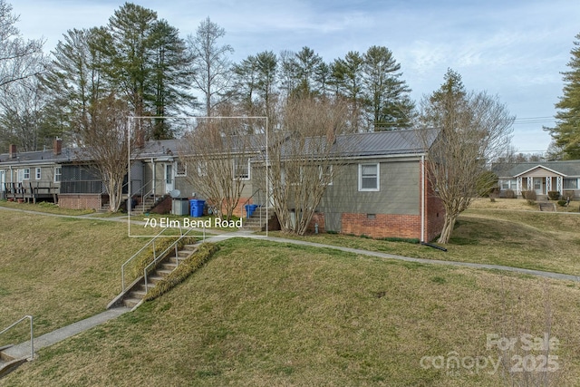
{"type": "Polygon", "coordinates": [[[557,191],[563,198],[580,199],[580,160],[499,164],[492,170],[498,175],[500,196],[511,189],[517,196],[534,190],[546,198],[548,192],[557,191]]]}

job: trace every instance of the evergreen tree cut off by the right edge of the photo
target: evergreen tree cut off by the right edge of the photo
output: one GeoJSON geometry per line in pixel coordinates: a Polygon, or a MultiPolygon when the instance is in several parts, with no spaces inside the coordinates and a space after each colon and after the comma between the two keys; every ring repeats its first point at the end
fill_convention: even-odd
{"type": "Polygon", "coordinates": [[[562,73],[565,82],[560,101],[556,103],[556,127],[549,128],[554,147],[565,159],[580,159],[580,34],[575,36],[569,71],[562,73]]]}

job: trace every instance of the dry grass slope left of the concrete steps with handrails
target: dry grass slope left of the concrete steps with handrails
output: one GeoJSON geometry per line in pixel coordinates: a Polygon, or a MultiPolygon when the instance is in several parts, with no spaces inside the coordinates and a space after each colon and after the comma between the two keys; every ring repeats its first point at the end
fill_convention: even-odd
{"type": "MultiPolygon", "coordinates": [[[[0,228],[0,327],[32,314],[36,335],[102,312],[121,291],[121,264],[145,243],[91,218],[2,210],[0,228]]],[[[21,331],[0,340],[24,341],[21,331]]]]}

